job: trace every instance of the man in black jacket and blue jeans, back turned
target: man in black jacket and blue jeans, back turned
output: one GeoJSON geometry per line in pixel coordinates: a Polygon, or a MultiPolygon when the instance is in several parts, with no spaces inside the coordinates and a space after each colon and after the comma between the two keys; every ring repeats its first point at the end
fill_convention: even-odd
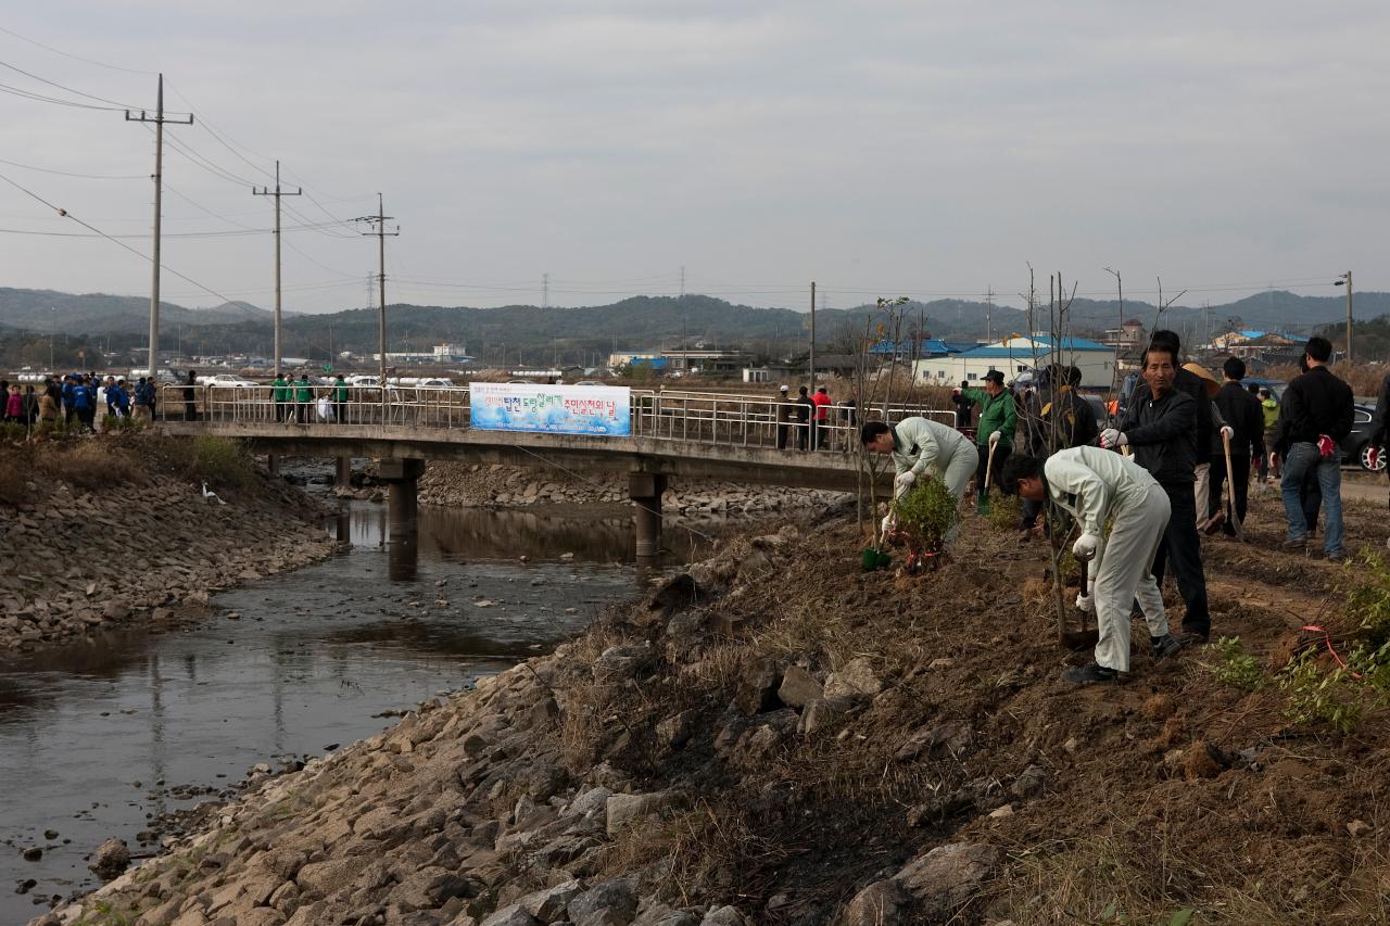
{"type": "Polygon", "coordinates": [[[1351,387],[1332,375],[1332,342],[1309,338],[1304,349],[1308,373],[1294,377],[1284,389],[1280,428],[1289,442],[1284,457],[1284,478],[1280,491],[1284,513],[1289,516],[1287,549],[1304,551],[1308,545],[1305,520],[1298,488],[1312,470],[1322,491],[1323,534],[1322,549],[1327,560],[1340,563],[1347,558],[1343,548],[1341,526],[1341,449],[1340,442],[1351,434],[1355,407],[1351,387]]]}

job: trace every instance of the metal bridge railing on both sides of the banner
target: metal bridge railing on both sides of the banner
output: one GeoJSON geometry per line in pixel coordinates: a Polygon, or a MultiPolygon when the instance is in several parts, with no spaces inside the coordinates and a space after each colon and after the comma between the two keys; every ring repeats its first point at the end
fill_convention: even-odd
{"type": "MultiPolygon", "coordinates": [[[[156,417],[214,424],[466,430],[470,427],[468,399],[466,387],[391,387],[384,395],[379,387],[350,385],[165,385],[156,417]]],[[[869,417],[881,419],[881,412],[874,409],[869,417]]],[[[660,441],[852,453],[859,446],[859,424],[867,420],[863,414],[855,406],[806,409],[803,403],[753,395],[638,389],[631,393],[632,435],[660,441]],[[817,420],[820,410],[824,420],[817,420]],[[801,420],[801,412],[810,420],[801,420]]],[[[887,420],[899,421],[913,414],[952,420],[951,412],[906,405],[890,407],[887,420]]]]}

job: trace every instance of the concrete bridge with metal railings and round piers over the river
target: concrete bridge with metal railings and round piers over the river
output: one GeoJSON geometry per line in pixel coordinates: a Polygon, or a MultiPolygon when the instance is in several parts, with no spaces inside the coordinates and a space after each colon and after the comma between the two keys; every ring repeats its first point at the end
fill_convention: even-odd
{"type": "MultiPolygon", "coordinates": [[[[826,421],[798,423],[795,403],[776,398],[634,389],[631,437],[591,437],[473,428],[467,388],[350,388],[345,402],[331,400],[332,387],[311,392],[307,402],[274,402],[270,387],[165,387],[156,424],[177,437],[242,441],[272,469],[279,456],[336,457],[339,484],[352,457],[374,457],[389,487],[393,534],[413,528],[427,460],[626,473],[639,556],[660,549],[662,495],[673,478],[844,492],[865,480],[852,406],[828,406],[826,421]]],[[[909,414],[949,420],[951,413],[888,409],[888,420],[909,414]]],[[[880,480],[887,485],[890,477],[880,480]]]]}

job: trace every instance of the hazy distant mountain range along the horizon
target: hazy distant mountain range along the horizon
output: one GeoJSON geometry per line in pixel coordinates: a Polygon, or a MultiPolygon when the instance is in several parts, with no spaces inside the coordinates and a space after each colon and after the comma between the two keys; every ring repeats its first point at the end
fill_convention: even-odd
{"type": "MultiPolygon", "coordinates": [[[[1390,293],[1357,293],[1355,306],[1358,318],[1390,314],[1390,293]]],[[[908,307],[910,327],[916,327],[920,318],[923,332],[937,338],[1001,338],[1027,328],[1022,310],[983,302],[940,299],[909,303],[908,307]]],[[[1152,328],[1156,311],[1152,303],[1138,300],[1126,300],[1122,313],[1115,300],[1076,299],[1069,328],[1074,335],[1097,335],[1105,328],[1115,328],[1122,318],[1138,318],[1152,328]]],[[[391,350],[424,350],[449,342],[466,346],[488,363],[500,363],[505,352],[507,366],[556,359],[588,364],[614,349],[674,348],[682,339],[688,345],[702,342],[785,355],[803,349],[809,334],[805,311],[741,306],[699,295],[637,296],[607,306],[575,309],[392,304],[386,314],[391,350]]],[[[827,350],[848,349],[855,336],[862,336],[865,320],[873,314],[873,307],[817,311],[817,343],[827,350]]],[[[161,303],[160,318],[164,349],[175,348],[181,338],[185,352],[190,355],[235,352],[265,356],[270,352],[271,313],[249,303],[224,303],[215,309],[161,303]]],[[[1298,296],[1270,291],[1202,309],[1175,306],[1163,313],[1162,327],[1175,328],[1184,342],[1195,343],[1232,328],[1308,334],[1344,318],[1346,302],[1339,295],[1298,296]]],[[[1044,309],[1038,327],[1045,325],[1044,309]]],[[[133,349],[145,345],[149,300],[0,288],[0,327],[82,335],[101,339],[111,350],[133,349]]],[[[909,332],[903,331],[903,335],[909,332]]],[[[375,349],[377,311],[373,309],[285,316],[285,356],[327,360],[341,350],[371,353],[375,349]]]]}

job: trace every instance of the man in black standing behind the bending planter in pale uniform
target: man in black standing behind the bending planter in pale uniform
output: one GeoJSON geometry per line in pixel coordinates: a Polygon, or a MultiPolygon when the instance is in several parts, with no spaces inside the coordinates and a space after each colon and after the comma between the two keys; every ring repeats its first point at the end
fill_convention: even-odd
{"type": "Polygon", "coordinates": [[[1176,388],[1177,373],[1177,350],[1170,343],[1151,343],[1144,352],[1143,375],[1148,388],[1136,389],[1143,395],[1130,402],[1119,428],[1101,432],[1101,446],[1133,446],[1134,460],[1168,492],[1173,514],[1154,558],[1154,578],[1162,585],[1168,562],[1173,562],[1177,590],[1187,603],[1180,640],[1207,642],[1212,619],[1193,494],[1198,412],[1197,400],[1176,388]]]}

